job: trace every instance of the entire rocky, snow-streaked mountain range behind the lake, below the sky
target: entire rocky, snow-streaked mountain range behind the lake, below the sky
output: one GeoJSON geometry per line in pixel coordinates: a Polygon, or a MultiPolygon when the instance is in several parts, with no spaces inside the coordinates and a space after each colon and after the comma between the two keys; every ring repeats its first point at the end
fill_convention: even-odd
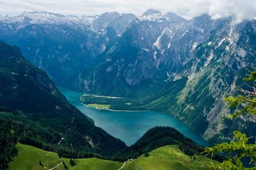
{"type": "Polygon", "coordinates": [[[231,124],[223,102],[243,85],[244,68],[256,65],[255,19],[188,20],[149,9],[142,16],[86,16],[90,22],[73,16],[67,24],[61,18],[68,16],[28,14],[1,17],[0,38],[21,46],[55,84],[129,98],[132,105],[123,108],[173,115],[212,143],[230,140],[239,125],[255,136],[255,118],[242,116],[231,124]],[[48,19],[55,17],[60,19],[48,19]]]}

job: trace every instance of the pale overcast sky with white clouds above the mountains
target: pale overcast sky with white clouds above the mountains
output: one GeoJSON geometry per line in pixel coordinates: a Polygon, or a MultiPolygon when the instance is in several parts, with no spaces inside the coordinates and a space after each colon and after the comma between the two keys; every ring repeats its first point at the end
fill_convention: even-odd
{"type": "Polygon", "coordinates": [[[140,15],[146,9],[175,12],[186,19],[209,14],[212,18],[237,16],[237,22],[253,19],[256,0],[0,0],[0,15],[23,11],[47,11],[64,15],[99,15],[103,12],[131,12],[140,15]]]}

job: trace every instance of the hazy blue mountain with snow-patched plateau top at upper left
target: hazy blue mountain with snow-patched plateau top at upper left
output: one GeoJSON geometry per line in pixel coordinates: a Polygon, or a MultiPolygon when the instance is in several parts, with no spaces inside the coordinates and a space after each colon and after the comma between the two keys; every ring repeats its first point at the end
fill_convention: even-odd
{"type": "Polygon", "coordinates": [[[44,69],[55,84],[74,89],[76,84],[70,82],[76,82],[83,69],[100,61],[100,55],[134,18],[133,14],[117,12],[100,16],[24,12],[1,18],[0,34],[4,41],[19,46],[22,54],[44,69]]]}

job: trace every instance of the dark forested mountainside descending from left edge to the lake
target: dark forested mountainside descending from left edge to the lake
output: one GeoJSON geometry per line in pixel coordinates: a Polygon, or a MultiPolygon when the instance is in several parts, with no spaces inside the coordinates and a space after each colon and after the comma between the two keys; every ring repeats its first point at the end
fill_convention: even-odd
{"type": "Polygon", "coordinates": [[[0,79],[1,151],[7,149],[1,153],[13,154],[10,148],[17,141],[66,156],[109,156],[127,147],[68,104],[44,71],[31,65],[17,46],[3,41],[0,79]]]}

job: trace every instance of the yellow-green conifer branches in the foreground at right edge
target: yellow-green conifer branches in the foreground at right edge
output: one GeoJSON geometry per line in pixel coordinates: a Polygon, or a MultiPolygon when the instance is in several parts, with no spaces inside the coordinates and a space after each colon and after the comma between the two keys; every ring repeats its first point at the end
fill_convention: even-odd
{"type": "MultiPolygon", "coordinates": [[[[250,86],[251,90],[239,89],[242,95],[238,96],[229,96],[225,98],[225,102],[231,107],[236,107],[237,111],[234,112],[229,118],[235,118],[241,114],[250,114],[256,116],[256,68],[254,71],[248,75],[247,78],[244,78],[244,81],[252,81],[253,85],[250,86]]],[[[213,146],[212,148],[206,148],[203,153],[213,156],[216,152],[224,152],[228,154],[228,159],[222,163],[213,164],[211,162],[212,168],[223,169],[223,170],[251,170],[256,169],[256,142],[254,144],[248,143],[249,139],[245,134],[242,134],[239,131],[234,131],[234,139],[230,142],[223,142],[213,146]],[[250,168],[244,165],[244,160],[250,159],[250,168]]],[[[254,136],[255,137],[255,136],[254,136]]],[[[253,137],[252,137],[253,138],[253,137]]]]}

